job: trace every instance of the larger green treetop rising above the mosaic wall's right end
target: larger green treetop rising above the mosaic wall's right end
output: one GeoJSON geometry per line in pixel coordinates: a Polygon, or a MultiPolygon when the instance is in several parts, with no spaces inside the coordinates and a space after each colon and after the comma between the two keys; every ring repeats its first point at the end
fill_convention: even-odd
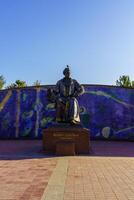
{"type": "Polygon", "coordinates": [[[121,87],[132,87],[132,82],[129,76],[123,75],[123,76],[120,76],[119,80],[116,81],[116,85],[121,86],[121,87]]]}

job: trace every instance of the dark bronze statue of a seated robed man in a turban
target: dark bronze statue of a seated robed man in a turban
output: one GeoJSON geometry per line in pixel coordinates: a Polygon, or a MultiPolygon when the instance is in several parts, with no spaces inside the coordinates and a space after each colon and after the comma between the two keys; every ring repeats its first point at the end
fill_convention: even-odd
{"type": "Polygon", "coordinates": [[[48,90],[48,99],[56,103],[56,121],[79,124],[79,105],[77,97],[84,88],[71,78],[69,66],[63,71],[64,78],[59,80],[54,90],[48,90]]]}

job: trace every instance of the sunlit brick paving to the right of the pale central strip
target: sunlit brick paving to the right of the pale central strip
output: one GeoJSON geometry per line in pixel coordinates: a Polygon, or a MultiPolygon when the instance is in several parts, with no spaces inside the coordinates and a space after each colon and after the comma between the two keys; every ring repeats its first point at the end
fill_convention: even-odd
{"type": "Polygon", "coordinates": [[[64,200],[134,200],[134,158],[71,158],[64,200]]]}

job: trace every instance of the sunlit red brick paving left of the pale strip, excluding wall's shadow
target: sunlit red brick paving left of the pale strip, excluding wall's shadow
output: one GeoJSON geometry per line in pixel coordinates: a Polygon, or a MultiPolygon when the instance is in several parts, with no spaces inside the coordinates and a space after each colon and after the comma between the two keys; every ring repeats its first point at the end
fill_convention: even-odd
{"type": "Polygon", "coordinates": [[[56,159],[0,160],[0,200],[40,200],[56,159]]]}

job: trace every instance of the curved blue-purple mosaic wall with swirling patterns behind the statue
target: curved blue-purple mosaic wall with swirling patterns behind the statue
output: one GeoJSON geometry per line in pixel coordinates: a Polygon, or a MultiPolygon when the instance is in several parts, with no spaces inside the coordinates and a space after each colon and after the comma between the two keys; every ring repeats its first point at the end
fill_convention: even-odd
{"type": "MultiPolygon", "coordinates": [[[[55,119],[46,87],[0,91],[0,138],[42,138],[55,119]]],[[[86,85],[78,99],[80,117],[91,137],[134,140],[134,89],[86,85]]]]}

